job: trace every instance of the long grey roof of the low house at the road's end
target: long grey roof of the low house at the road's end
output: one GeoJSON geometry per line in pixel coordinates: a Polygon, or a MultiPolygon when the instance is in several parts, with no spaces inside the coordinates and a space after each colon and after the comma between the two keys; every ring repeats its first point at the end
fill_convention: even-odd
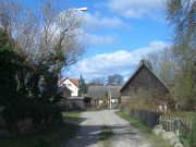
{"type": "MultiPolygon", "coordinates": [[[[110,86],[111,98],[118,99],[121,94],[119,93],[121,86],[110,86]]],[[[106,91],[109,95],[109,86],[89,86],[87,97],[91,97],[93,100],[103,100],[106,91]]]]}

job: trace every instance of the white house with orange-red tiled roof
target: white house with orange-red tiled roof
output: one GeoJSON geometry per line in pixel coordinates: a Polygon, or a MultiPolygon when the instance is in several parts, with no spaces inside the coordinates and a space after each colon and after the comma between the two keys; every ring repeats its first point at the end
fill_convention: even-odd
{"type": "Polygon", "coordinates": [[[79,84],[77,78],[62,78],[60,86],[66,86],[72,93],[71,97],[77,97],[79,93],[79,84]]]}

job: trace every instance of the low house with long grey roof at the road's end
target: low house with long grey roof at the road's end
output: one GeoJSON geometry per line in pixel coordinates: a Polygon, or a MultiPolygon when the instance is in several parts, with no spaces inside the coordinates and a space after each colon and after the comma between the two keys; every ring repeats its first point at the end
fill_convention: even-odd
{"type": "Polygon", "coordinates": [[[102,105],[105,103],[106,93],[108,94],[108,98],[110,98],[111,91],[111,102],[118,103],[118,99],[121,97],[119,93],[121,86],[89,86],[87,97],[91,97],[91,100],[96,103],[102,105]]]}

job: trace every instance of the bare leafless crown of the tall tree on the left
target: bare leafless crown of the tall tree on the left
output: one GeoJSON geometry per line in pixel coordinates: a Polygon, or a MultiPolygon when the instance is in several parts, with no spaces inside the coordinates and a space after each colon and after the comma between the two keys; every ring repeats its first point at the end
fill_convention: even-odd
{"type": "Polygon", "coordinates": [[[83,15],[73,9],[61,11],[61,1],[42,1],[37,10],[13,0],[0,0],[0,27],[26,62],[48,63],[50,70],[60,71],[85,52],[78,41],[83,15]]]}

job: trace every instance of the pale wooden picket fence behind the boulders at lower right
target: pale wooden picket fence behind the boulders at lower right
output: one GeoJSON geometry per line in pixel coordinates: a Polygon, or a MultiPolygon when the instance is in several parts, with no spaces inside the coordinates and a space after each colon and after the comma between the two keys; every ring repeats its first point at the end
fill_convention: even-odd
{"type": "Polygon", "coordinates": [[[162,124],[167,132],[175,132],[176,135],[181,134],[186,136],[192,130],[193,121],[191,119],[160,115],[159,124],[162,124]]]}

